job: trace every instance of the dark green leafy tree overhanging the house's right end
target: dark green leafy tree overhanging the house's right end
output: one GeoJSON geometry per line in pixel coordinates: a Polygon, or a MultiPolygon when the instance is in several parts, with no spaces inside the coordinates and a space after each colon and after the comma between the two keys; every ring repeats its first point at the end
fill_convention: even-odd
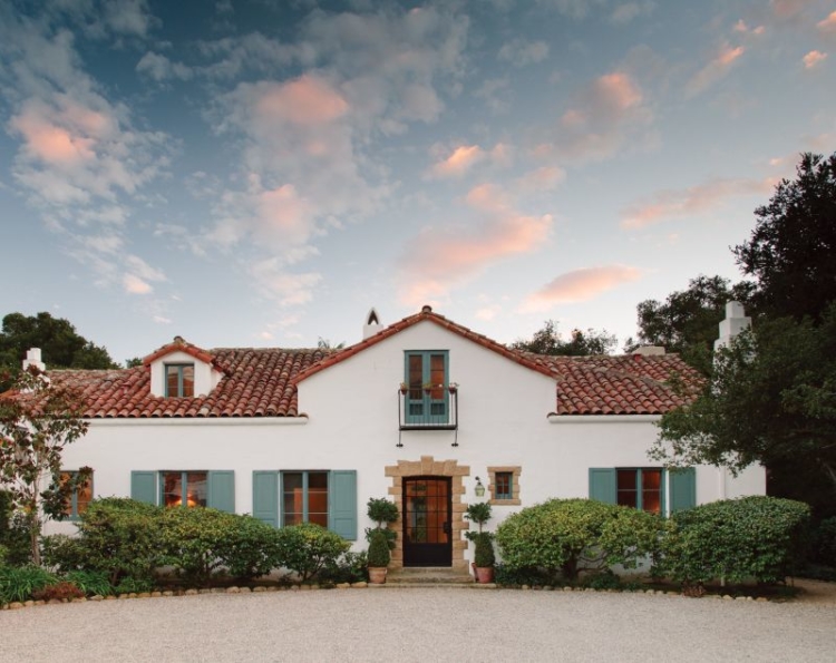
{"type": "Polygon", "coordinates": [[[816,325],[764,321],[721,349],[704,391],[665,413],[651,457],[738,472],[752,462],[817,475],[836,494],[836,304],[816,325]]]}

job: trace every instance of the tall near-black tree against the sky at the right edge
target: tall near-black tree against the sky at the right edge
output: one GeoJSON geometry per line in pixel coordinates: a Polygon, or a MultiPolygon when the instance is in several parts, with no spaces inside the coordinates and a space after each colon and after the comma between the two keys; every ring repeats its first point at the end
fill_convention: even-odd
{"type": "Polygon", "coordinates": [[[759,309],[818,320],[836,299],[836,153],[803,154],[796,173],[755,211],[751,238],[733,251],[743,273],[757,279],[759,309]]]}

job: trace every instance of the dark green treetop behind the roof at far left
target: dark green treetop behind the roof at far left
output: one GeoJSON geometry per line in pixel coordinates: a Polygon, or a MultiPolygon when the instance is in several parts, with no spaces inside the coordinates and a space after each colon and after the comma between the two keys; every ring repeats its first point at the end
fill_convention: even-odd
{"type": "Polygon", "coordinates": [[[0,331],[0,368],[17,372],[30,348],[40,348],[43,362],[59,369],[119,368],[107,350],[76,332],[64,318],[9,313],[0,331]]]}

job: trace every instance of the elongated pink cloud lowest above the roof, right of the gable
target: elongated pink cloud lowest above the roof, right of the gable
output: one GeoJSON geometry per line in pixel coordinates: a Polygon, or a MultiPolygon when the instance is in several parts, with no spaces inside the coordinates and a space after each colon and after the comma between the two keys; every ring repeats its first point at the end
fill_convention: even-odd
{"type": "Polygon", "coordinates": [[[519,308],[522,313],[547,311],[557,304],[573,304],[636,281],[642,272],[628,265],[584,267],[556,276],[537,292],[528,295],[519,308]]]}

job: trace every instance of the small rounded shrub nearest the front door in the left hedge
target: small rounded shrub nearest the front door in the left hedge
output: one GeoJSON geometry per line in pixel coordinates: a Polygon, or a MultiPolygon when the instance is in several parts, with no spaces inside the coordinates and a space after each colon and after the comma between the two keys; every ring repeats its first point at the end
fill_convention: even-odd
{"type": "Polygon", "coordinates": [[[276,530],[276,539],[279,565],[297,573],[303,583],[337,564],[337,559],[351,547],[339,535],[313,523],[282,527],[276,530]]]}

